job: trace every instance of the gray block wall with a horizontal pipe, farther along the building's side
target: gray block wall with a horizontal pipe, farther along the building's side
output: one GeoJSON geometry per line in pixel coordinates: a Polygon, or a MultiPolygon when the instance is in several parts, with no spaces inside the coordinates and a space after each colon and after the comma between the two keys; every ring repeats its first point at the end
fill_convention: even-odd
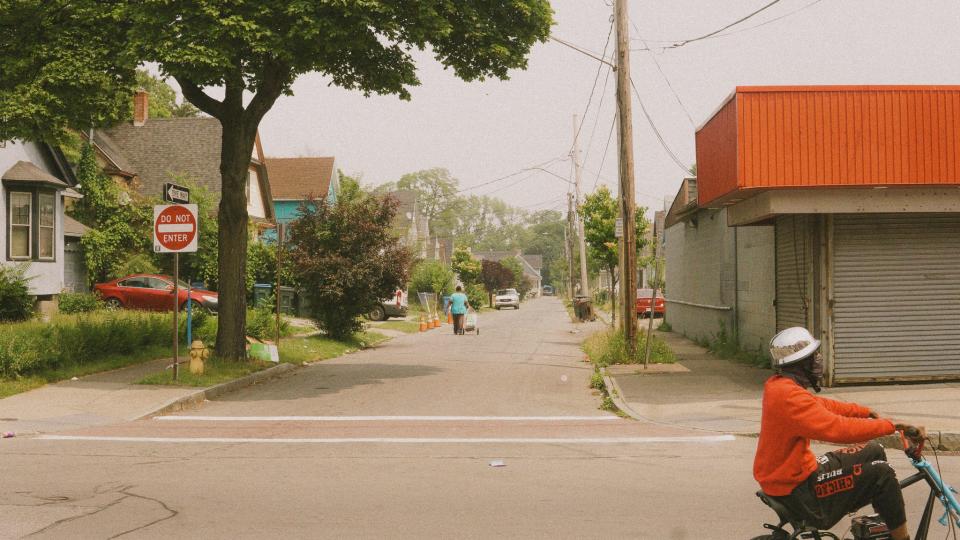
{"type": "Polygon", "coordinates": [[[733,330],[735,266],[726,212],[701,210],[695,222],[668,228],[664,251],[667,321],[675,332],[696,339],[709,338],[721,324],[733,330]]]}

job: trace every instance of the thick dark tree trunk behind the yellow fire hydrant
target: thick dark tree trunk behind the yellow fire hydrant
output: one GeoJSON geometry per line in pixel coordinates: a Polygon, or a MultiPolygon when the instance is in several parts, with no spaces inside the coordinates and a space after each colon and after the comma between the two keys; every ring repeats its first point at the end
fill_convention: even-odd
{"type": "Polygon", "coordinates": [[[247,171],[256,139],[256,129],[245,128],[242,110],[221,119],[221,196],[217,222],[220,225],[220,305],[217,325],[217,356],[225,360],[246,357],[247,314],[247,171]],[[249,132],[248,132],[249,131],[249,132]]]}

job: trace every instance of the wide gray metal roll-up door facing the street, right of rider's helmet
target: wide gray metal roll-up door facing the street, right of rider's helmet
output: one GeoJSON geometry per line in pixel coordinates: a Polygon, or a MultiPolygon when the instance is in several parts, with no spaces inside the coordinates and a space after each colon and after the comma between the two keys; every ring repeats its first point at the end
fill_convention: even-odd
{"type": "Polygon", "coordinates": [[[960,376],[960,215],[834,219],[836,382],[960,376]]]}

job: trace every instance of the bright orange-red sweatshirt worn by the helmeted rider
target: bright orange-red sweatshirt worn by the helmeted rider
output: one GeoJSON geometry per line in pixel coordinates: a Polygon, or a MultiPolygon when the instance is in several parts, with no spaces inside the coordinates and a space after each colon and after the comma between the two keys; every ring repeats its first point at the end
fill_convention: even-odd
{"type": "Polygon", "coordinates": [[[892,422],[869,415],[856,403],[817,397],[791,379],[770,377],[763,386],[753,477],[767,495],[789,495],[817,470],[811,439],[851,444],[893,433],[892,422]]]}

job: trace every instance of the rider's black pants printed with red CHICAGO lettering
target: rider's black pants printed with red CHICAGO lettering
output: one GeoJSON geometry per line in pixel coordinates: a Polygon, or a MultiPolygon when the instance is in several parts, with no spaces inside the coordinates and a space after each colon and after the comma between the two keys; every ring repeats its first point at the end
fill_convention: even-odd
{"type": "Polygon", "coordinates": [[[785,497],[772,497],[808,525],[829,529],[845,514],[872,504],[891,530],[907,521],[897,474],[875,442],[817,458],[817,470],[785,497]]]}

